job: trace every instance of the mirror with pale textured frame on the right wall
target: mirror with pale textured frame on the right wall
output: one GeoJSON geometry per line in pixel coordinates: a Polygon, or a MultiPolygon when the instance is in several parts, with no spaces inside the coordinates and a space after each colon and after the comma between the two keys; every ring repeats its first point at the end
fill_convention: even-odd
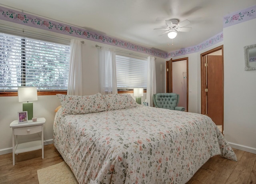
{"type": "Polygon", "coordinates": [[[244,70],[256,70],[256,44],[244,46],[244,70]]]}

